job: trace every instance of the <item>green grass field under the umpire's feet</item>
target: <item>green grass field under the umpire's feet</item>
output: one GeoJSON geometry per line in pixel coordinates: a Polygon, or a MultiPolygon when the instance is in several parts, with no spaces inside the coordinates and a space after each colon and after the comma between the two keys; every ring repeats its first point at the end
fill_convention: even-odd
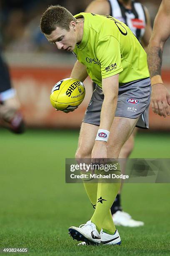
{"type": "MultiPolygon", "coordinates": [[[[93,212],[83,185],[65,184],[65,158],[74,157],[77,139],[78,131],[0,130],[0,248],[29,248],[31,256],[170,255],[170,184],[125,184],[124,210],[145,225],[119,227],[121,246],[77,247],[67,230],[93,212]]],[[[166,133],[140,133],[131,157],[170,158],[169,141],[166,133]]]]}

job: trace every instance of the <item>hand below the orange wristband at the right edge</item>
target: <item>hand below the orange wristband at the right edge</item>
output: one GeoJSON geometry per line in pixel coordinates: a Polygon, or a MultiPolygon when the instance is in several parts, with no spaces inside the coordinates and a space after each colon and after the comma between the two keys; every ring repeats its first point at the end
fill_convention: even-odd
{"type": "Polygon", "coordinates": [[[155,114],[164,118],[170,115],[170,93],[163,84],[152,86],[151,106],[155,114]]]}

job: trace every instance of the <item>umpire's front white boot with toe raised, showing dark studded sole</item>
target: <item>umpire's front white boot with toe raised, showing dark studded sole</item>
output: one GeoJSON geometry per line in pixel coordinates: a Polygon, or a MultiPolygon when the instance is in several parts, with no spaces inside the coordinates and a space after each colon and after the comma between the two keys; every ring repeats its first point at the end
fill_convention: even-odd
{"type": "Polygon", "coordinates": [[[96,226],[91,220],[87,221],[86,224],[82,224],[77,227],[70,227],[69,234],[73,240],[83,241],[87,245],[99,245],[100,234],[98,233],[96,226]]]}

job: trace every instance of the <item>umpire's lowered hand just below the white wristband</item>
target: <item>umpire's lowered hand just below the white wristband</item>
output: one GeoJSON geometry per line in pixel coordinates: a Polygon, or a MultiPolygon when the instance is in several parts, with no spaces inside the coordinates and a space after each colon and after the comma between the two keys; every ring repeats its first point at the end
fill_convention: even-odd
{"type": "Polygon", "coordinates": [[[92,149],[92,163],[102,164],[107,158],[107,149],[105,141],[95,141],[95,145],[92,149]]]}

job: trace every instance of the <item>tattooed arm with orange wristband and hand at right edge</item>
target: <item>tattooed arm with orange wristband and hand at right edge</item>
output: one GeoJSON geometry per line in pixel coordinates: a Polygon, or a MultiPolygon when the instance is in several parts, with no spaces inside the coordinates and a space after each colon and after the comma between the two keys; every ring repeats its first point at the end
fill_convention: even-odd
{"type": "Polygon", "coordinates": [[[151,105],[160,116],[170,115],[170,94],[161,78],[163,46],[170,36],[170,0],[163,0],[156,15],[148,46],[148,66],[152,84],[151,105]]]}

